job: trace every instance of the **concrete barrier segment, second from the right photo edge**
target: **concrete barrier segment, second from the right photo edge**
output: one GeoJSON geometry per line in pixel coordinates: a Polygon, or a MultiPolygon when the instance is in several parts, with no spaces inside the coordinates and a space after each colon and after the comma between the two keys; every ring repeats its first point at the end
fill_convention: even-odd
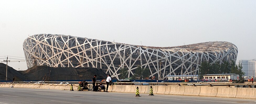
{"type": "Polygon", "coordinates": [[[237,94],[237,87],[218,87],[216,97],[230,97],[235,98],[237,94]]]}

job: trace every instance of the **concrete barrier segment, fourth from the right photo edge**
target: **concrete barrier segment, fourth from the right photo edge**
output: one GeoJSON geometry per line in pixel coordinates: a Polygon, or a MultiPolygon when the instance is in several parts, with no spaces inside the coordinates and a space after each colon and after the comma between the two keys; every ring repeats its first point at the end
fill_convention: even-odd
{"type": "Polygon", "coordinates": [[[199,96],[200,89],[201,89],[200,86],[185,86],[185,91],[183,95],[199,96]]]}

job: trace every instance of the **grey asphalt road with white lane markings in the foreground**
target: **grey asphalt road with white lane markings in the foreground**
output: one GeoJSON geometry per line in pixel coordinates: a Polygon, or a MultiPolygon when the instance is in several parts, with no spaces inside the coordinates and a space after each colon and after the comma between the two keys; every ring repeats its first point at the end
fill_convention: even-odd
{"type": "Polygon", "coordinates": [[[253,99],[69,91],[54,89],[0,88],[0,104],[256,104],[253,99]]]}

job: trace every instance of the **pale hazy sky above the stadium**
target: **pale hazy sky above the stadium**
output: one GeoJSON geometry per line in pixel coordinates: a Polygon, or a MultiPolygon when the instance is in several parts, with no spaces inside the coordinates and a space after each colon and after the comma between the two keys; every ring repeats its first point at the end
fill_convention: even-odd
{"type": "Polygon", "coordinates": [[[24,59],[23,42],[34,34],[161,47],[227,41],[238,62],[256,58],[256,1],[0,1],[0,61],[24,59]]]}

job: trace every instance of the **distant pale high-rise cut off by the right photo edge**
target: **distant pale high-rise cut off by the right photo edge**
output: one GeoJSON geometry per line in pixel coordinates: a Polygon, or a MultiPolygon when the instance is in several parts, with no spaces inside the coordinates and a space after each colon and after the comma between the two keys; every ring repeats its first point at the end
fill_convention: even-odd
{"type": "Polygon", "coordinates": [[[248,61],[248,76],[256,76],[256,59],[251,59],[248,61]]]}

